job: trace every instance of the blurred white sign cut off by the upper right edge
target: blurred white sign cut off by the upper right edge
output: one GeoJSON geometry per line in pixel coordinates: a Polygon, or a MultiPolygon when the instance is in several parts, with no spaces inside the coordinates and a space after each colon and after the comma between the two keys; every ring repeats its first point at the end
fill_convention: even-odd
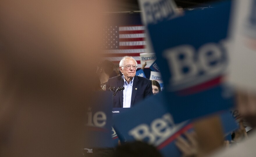
{"type": "Polygon", "coordinates": [[[236,1],[235,6],[228,80],[239,88],[256,92],[256,2],[236,1]]]}

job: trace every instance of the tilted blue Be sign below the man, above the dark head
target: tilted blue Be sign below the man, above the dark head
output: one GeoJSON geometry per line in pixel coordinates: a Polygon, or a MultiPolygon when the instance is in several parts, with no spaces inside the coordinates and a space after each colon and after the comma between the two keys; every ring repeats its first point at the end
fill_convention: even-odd
{"type": "Polygon", "coordinates": [[[153,144],[164,156],[181,156],[175,140],[190,131],[192,125],[189,121],[175,124],[163,103],[163,96],[157,94],[137,104],[132,110],[114,116],[113,127],[120,141],[142,140],[153,144]]]}

